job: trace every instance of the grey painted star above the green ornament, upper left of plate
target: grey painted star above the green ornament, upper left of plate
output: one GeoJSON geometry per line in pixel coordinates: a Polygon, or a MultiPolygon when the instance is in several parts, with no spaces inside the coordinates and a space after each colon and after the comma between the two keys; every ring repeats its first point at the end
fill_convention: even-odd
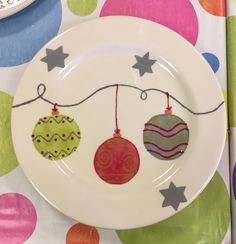
{"type": "Polygon", "coordinates": [[[48,65],[48,72],[50,72],[55,67],[64,68],[65,59],[69,56],[67,53],[63,53],[63,47],[60,46],[55,50],[46,48],[46,56],[40,61],[48,65]]]}

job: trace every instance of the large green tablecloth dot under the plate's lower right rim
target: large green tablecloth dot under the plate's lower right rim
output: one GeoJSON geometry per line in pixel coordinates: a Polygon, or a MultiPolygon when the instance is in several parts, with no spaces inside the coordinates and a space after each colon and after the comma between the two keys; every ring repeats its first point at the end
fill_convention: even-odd
{"type": "Polygon", "coordinates": [[[216,173],[199,197],[178,214],[159,224],[117,234],[123,244],[220,244],[229,222],[229,193],[216,173]]]}

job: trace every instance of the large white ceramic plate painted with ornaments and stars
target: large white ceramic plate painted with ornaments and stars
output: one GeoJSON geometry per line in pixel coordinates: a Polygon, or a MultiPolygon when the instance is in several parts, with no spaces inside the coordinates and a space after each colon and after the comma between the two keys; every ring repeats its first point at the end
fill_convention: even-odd
{"type": "MultiPolygon", "coordinates": [[[[23,75],[14,105],[37,97],[40,83],[46,87],[43,97],[59,104],[76,103],[116,83],[162,89],[195,112],[212,110],[223,101],[214,73],[193,46],[161,25],[131,17],[89,21],[48,43],[23,75]],[[137,63],[135,55],[143,57],[147,52],[156,62],[149,67],[152,73],[140,76],[132,67],[137,63]]],[[[119,127],[136,146],[140,167],[129,182],[109,184],[96,173],[94,156],[114,131],[115,92],[116,86],[79,106],[59,108],[75,119],[81,131],[77,151],[63,160],[42,157],[32,142],[38,119],[50,115],[52,105],[47,102],[38,99],[14,108],[12,134],[21,167],[49,203],[82,223],[128,229],[174,215],[203,190],[224,147],[226,112],[222,105],[214,113],[193,115],[171,99],[173,114],[188,125],[189,145],[179,158],[160,160],[146,151],[143,129],[151,117],[164,113],[165,94],[150,91],[143,101],[140,91],[120,86],[119,127]]],[[[47,128],[42,132],[45,138],[51,132],[47,128]]],[[[60,134],[55,128],[53,133],[60,134]]]]}

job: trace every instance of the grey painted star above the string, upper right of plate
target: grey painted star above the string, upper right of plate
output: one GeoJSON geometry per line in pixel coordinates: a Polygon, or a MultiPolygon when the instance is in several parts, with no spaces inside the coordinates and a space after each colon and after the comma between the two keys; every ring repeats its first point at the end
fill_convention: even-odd
{"type": "Polygon", "coordinates": [[[139,70],[139,75],[143,76],[145,73],[153,73],[152,65],[156,62],[154,59],[149,59],[149,52],[147,52],[143,57],[135,55],[137,63],[132,66],[134,69],[139,70]]]}

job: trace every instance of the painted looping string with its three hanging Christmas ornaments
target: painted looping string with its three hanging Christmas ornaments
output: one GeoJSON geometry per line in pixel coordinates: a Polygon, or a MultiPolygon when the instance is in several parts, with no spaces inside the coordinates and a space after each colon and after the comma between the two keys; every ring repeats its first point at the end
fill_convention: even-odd
{"type": "Polygon", "coordinates": [[[168,106],[166,113],[154,116],[145,124],[143,131],[144,145],[147,151],[159,159],[175,159],[183,154],[188,145],[189,129],[182,119],[171,114],[172,111],[169,106],[170,98],[188,112],[198,116],[214,113],[224,104],[224,101],[222,101],[211,110],[195,112],[180,102],[177,98],[161,89],[148,88],[142,90],[139,87],[128,84],[107,85],[97,89],[79,102],[73,104],[56,104],[44,97],[47,90],[46,86],[44,84],[39,84],[37,87],[37,97],[15,104],[12,107],[18,108],[31,104],[37,100],[42,100],[54,105],[52,115],[44,117],[38,121],[33,131],[32,139],[40,154],[49,160],[57,160],[69,156],[77,149],[80,141],[80,130],[73,119],[68,116],[59,115],[56,107],[65,108],[79,106],[98,92],[112,87],[116,87],[117,89],[115,134],[113,138],[108,139],[98,148],[94,158],[96,172],[101,179],[111,184],[123,184],[131,180],[138,172],[140,163],[137,148],[130,141],[121,136],[118,128],[117,96],[119,87],[131,88],[139,91],[141,93],[140,99],[142,100],[148,98],[148,92],[150,91],[167,95],[168,106]],[[55,126],[52,124],[55,124],[55,126]],[[162,138],[162,140],[160,140],[160,138],[162,138]]]}

